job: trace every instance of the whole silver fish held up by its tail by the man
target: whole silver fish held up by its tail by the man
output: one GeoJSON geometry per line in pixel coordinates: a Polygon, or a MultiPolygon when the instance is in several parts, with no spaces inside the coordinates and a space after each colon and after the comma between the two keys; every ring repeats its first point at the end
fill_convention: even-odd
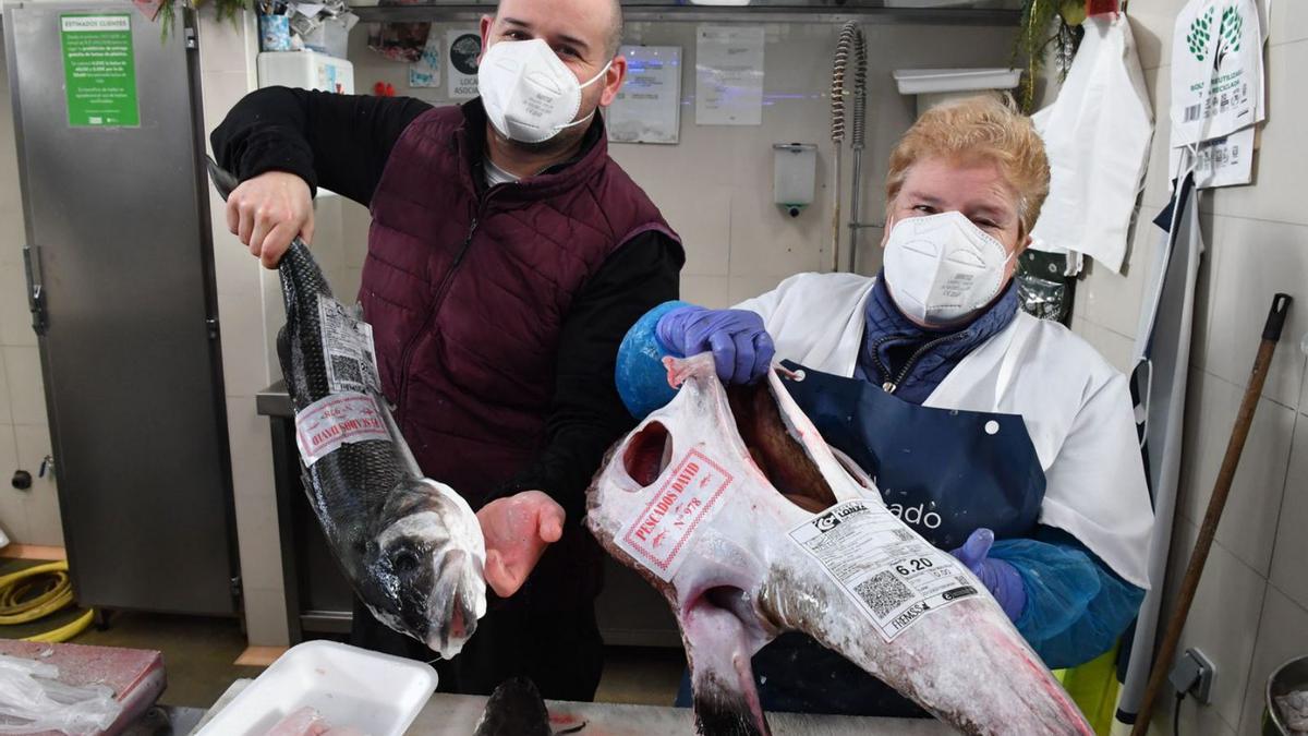
{"type": "MultiPolygon", "coordinates": [[[[209,174],[226,199],[235,179],[212,160],[209,174]]],[[[309,503],[377,619],[451,657],[485,613],[481,526],[453,488],[422,475],[375,388],[370,327],[332,297],[300,238],[277,272],[277,354],[309,503]]]]}

